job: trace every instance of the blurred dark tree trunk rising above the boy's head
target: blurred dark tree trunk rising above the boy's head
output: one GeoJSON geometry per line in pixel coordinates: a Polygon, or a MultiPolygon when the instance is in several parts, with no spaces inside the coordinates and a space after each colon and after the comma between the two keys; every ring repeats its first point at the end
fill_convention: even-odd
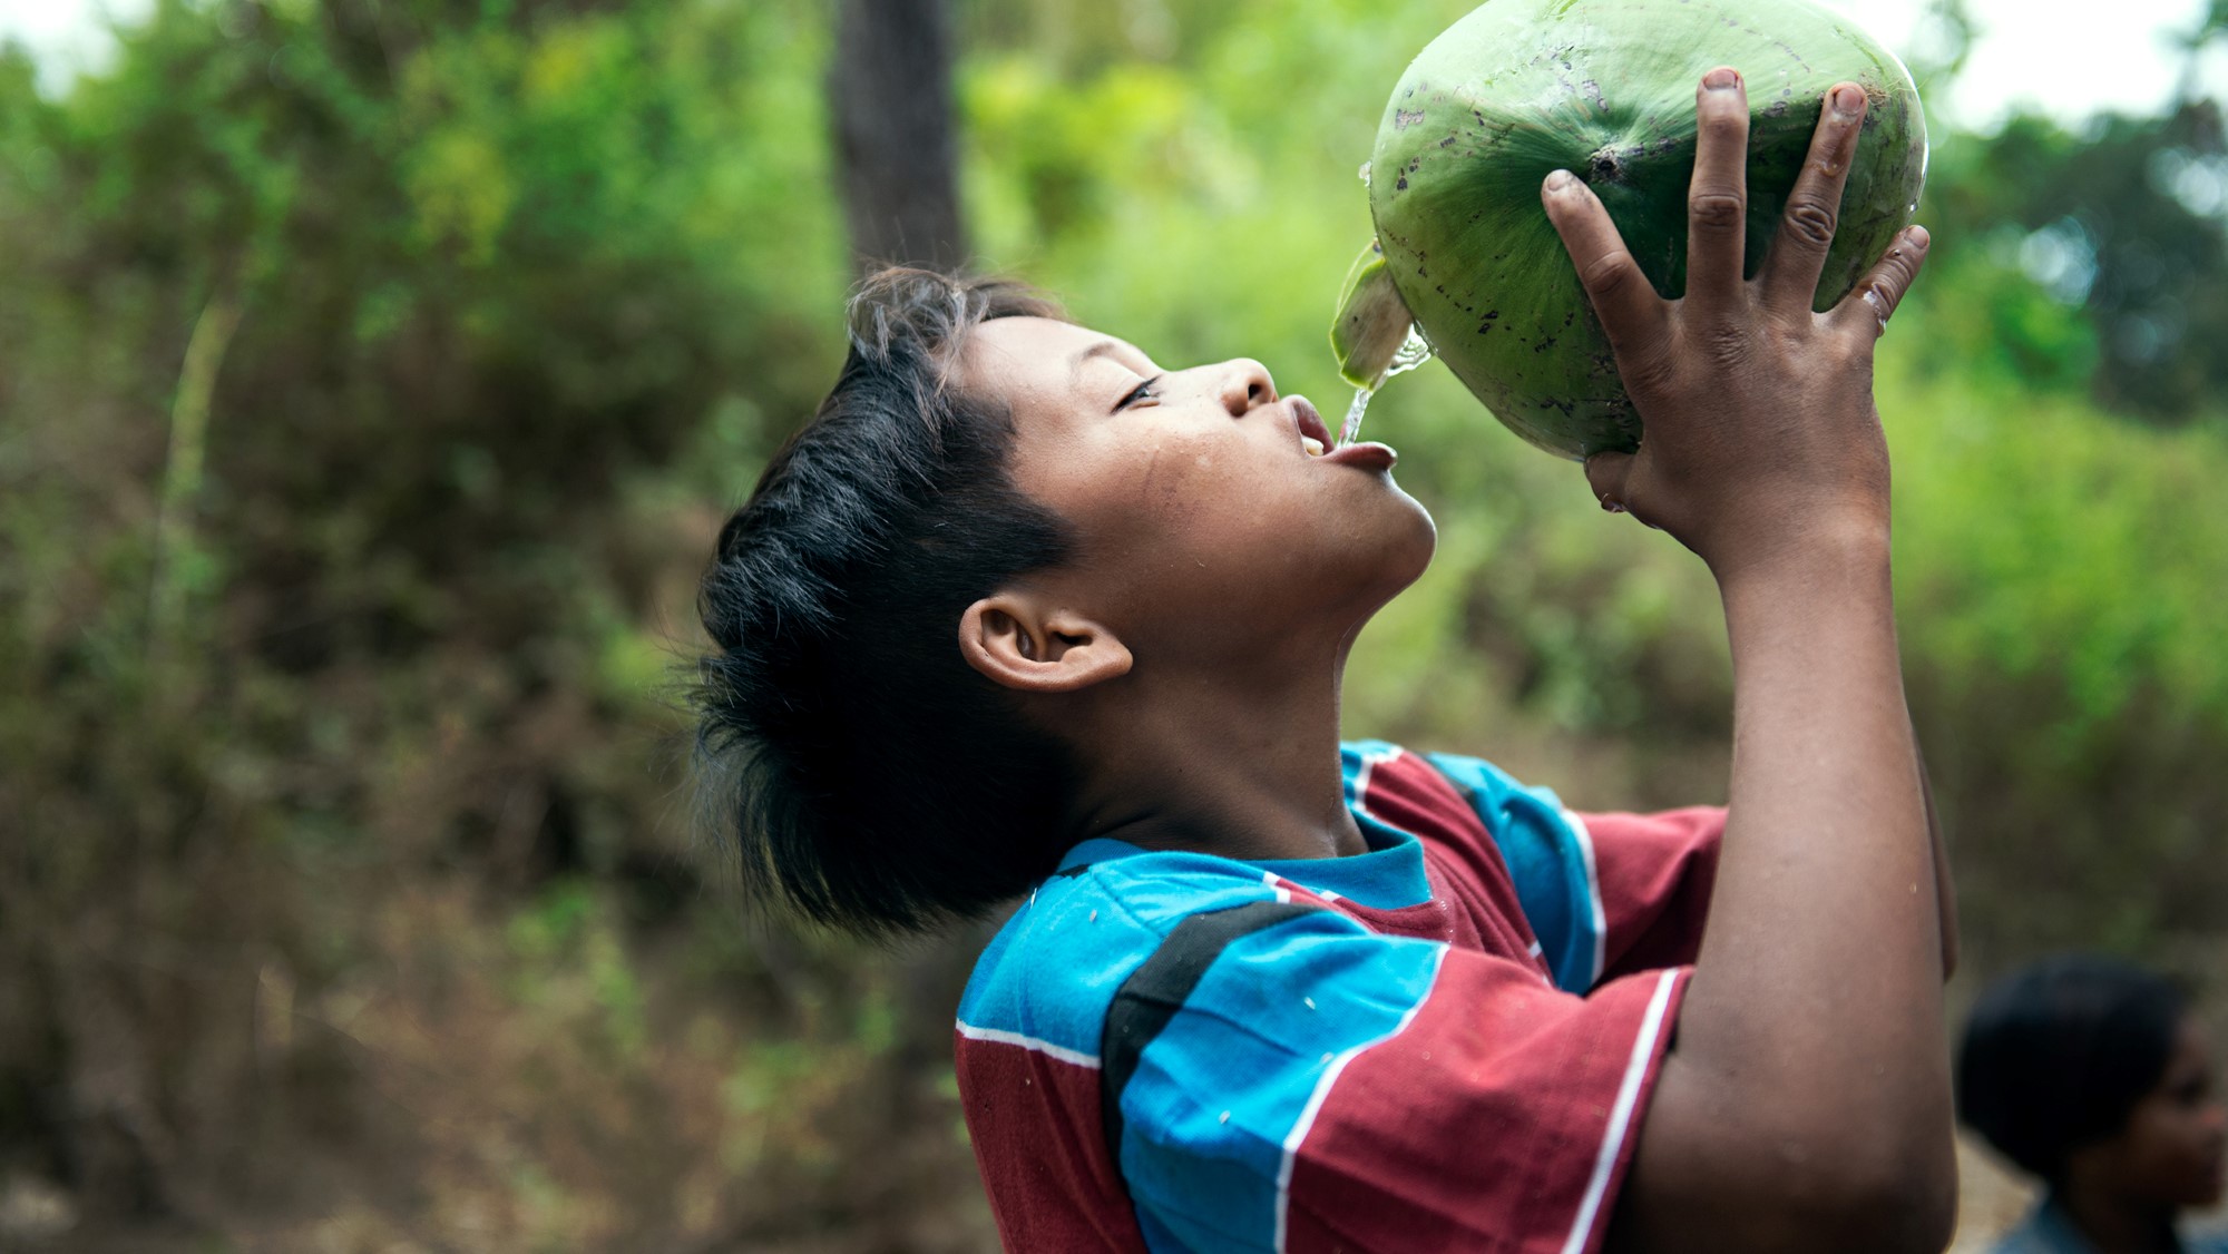
{"type": "Polygon", "coordinates": [[[829,94],[858,263],[958,265],[949,2],[840,0],[829,94]]]}

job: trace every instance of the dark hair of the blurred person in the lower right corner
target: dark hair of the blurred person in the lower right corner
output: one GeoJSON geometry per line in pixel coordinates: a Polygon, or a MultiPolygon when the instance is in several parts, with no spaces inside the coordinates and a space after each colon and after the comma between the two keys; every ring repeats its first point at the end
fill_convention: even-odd
{"type": "Polygon", "coordinates": [[[1987,987],[1956,1058],[1958,1118],[2061,1183],[2074,1149],[2128,1125],[2159,1087],[2188,998],[2117,958],[2045,958],[1987,987]]]}

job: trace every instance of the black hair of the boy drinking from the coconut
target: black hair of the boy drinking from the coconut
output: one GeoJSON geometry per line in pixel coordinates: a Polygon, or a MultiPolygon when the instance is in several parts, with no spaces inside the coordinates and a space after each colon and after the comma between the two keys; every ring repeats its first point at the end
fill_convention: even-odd
{"type": "Polygon", "coordinates": [[[893,935],[1056,869],[1069,755],[958,646],[971,601],[1072,546],[1007,474],[1009,410],[949,385],[1005,316],[1063,314],[1009,281],[867,278],[836,390],[720,530],[700,797],[760,902],[893,935]]]}

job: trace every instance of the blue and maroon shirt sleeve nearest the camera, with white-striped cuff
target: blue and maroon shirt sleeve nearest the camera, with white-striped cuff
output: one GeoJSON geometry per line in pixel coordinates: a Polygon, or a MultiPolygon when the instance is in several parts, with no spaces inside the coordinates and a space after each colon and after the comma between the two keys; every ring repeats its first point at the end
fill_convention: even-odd
{"type": "Polygon", "coordinates": [[[1515,960],[1261,902],[1185,918],[1107,1013],[1150,1250],[1595,1250],[1684,971],[1515,960]]]}

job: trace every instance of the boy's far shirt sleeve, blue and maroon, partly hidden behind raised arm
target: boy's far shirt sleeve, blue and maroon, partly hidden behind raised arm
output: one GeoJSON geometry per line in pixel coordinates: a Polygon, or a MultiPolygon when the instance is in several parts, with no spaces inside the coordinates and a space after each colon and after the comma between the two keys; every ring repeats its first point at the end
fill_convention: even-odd
{"type": "Polygon", "coordinates": [[[1499,846],[1557,987],[1586,991],[1613,976],[1693,962],[1722,809],[1582,815],[1491,762],[1455,753],[1428,762],[1499,846]]]}

